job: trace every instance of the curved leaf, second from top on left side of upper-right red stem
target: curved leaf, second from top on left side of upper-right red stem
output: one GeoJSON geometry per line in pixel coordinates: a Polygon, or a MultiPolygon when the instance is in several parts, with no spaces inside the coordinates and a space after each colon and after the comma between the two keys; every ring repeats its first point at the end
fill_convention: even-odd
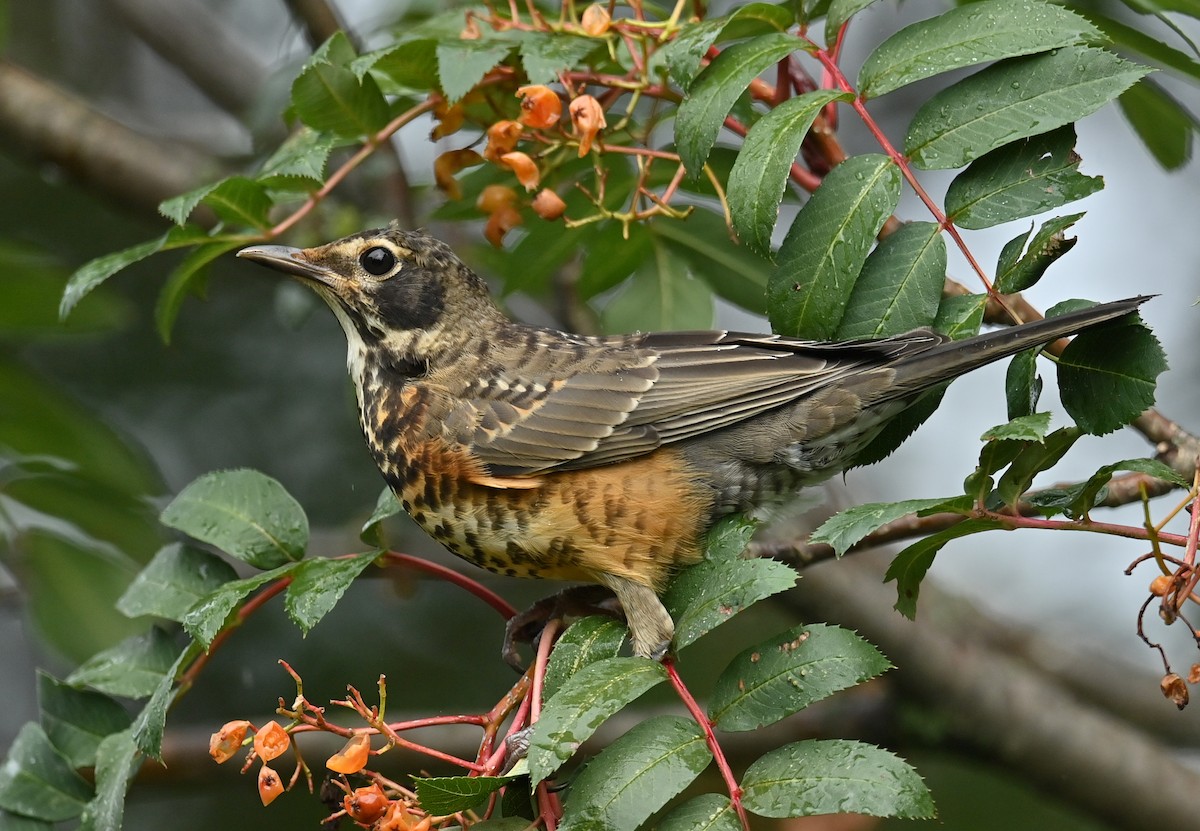
{"type": "Polygon", "coordinates": [[[779,203],[812,121],[826,104],[852,100],[850,92],[814,90],[784,101],[750,128],[730,172],[728,204],[733,227],[751,250],[770,253],[779,203]]]}

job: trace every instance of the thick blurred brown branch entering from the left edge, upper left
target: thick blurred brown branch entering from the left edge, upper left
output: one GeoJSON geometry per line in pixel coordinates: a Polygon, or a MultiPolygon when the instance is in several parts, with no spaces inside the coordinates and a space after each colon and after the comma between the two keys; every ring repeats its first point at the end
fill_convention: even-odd
{"type": "Polygon", "coordinates": [[[212,157],[134,132],[5,60],[0,60],[0,141],[156,216],[160,202],[196,187],[218,169],[212,157]]]}

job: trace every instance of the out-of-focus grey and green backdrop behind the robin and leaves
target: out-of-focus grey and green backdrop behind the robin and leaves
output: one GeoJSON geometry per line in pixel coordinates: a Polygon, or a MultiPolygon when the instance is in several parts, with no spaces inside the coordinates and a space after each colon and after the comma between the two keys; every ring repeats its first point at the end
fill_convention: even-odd
{"type": "MultiPolygon", "coordinates": [[[[942,8],[928,0],[878,5],[853,28],[845,65],[857,66],[905,20],[942,8]]],[[[168,256],[122,273],[66,324],[56,316],[74,268],[166,229],[155,211],[160,199],[235,171],[277,144],[289,80],[328,25],[322,11],[336,12],[368,47],[371,32],[414,12],[385,0],[0,1],[0,695],[6,704],[0,747],[37,717],[36,669],[64,677],[79,660],[144,628],[112,603],[170,539],[157,512],[200,473],[258,468],[308,512],[316,554],[362,548],[356,532],[382,483],[359,435],[341,330],[301,288],[226,257],[212,267],[204,301],[185,305],[164,345],[152,310],[173,264],[168,256]]],[[[1162,83],[1198,109],[1196,86],[1172,77],[1162,83]]],[[[912,92],[928,94],[926,86],[912,92]]],[[[872,104],[894,137],[913,108],[914,98],[902,96],[872,104]]],[[[856,126],[846,119],[842,141],[851,151],[869,149],[869,137],[856,126]]],[[[398,215],[448,238],[486,274],[478,227],[430,219],[442,196],[431,187],[438,148],[427,141],[428,130],[428,122],[416,124],[397,138],[410,198],[397,203],[388,171],[368,167],[336,204],[322,207],[302,241],[398,215]]],[[[1198,430],[1200,167],[1187,161],[1164,171],[1116,108],[1079,125],[1078,149],[1084,172],[1103,175],[1106,187],[1081,204],[1087,216],[1075,226],[1080,244],[1030,299],[1044,309],[1067,297],[1160,294],[1144,311],[1171,361],[1159,379],[1159,408],[1198,430]]],[[[926,186],[937,192],[949,178],[930,177],[926,186]]],[[[919,219],[919,205],[902,203],[900,215],[919,219]]],[[[973,233],[968,243],[982,262],[992,263],[1015,233],[1007,227],[973,233]]],[[[953,261],[950,271],[966,274],[953,261]]],[[[517,294],[508,303],[526,319],[554,319],[552,304],[536,298],[517,294]]],[[[720,325],[766,327],[733,307],[719,305],[716,317],[720,325]]],[[[810,500],[824,506],[817,514],[864,501],[956,492],[974,465],[978,436],[1006,420],[1002,372],[991,367],[958,382],[900,452],[810,500]]],[[[1066,423],[1057,417],[1057,426],[1066,423]]],[[[1078,480],[1102,464],[1096,459],[1152,454],[1132,431],[1085,438],[1055,476],[1078,480]]],[[[1165,513],[1172,498],[1156,510],[1165,513]]],[[[1128,506],[1105,519],[1140,525],[1140,512],[1128,506]]],[[[799,533],[808,519],[778,533],[799,533]]],[[[1182,520],[1174,530],[1182,532],[1182,520]]],[[[880,584],[886,560],[856,555],[809,569],[781,602],[761,604],[708,639],[712,666],[703,654],[689,653],[689,680],[703,688],[731,650],[758,629],[766,634],[798,617],[841,622],[860,629],[901,669],[790,719],[781,731],[859,736],[893,747],[928,778],[941,829],[1116,827],[1062,799],[1052,776],[1022,769],[1003,748],[1006,736],[1019,743],[1022,730],[1044,727],[988,722],[984,713],[995,709],[978,716],[947,712],[942,705],[959,706],[953,690],[936,688],[941,682],[930,688],[928,678],[936,676],[916,677],[929,668],[912,648],[958,660],[964,672],[996,671],[1009,680],[1027,674],[1022,689],[1033,700],[1010,703],[1014,713],[1016,704],[1028,705],[1021,713],[1042,706],[1046,722],[1063,729],[1069,722],[1090,725],[1093,716],[1100,719],[1096,724],[1111,722],[1127,731],[1114,734],[1120,742],[1129,736],[1144,742],[1128,739],[1123,755],[1118,742],[1111,748],[1115,765],[1140,753],[1159,754],[1164,764],[1200,763],[1200,711],[1193,705],[1176,712],[1162,698],[1162,664],[1135,634],[1153,575],[1144,568],[1127,578],[1123,569],[1141,550],[1093,534],[1043,537],[992,533],[950,544],[932,570],[936,585],[923,591],[917,624],[890,611],[893,588],[880,584]],[[964,718],[980,719],[978,736],[964,718]]],[[[457,567],[404,520],[389,525],[388,538],[396,549],[457,567]]],[[[547,591],[542,584],[481,579],[517,606],[547,591]]],[[[290,698],[294,688],[275,663],[280,658],[301,672],[314,701],[340,697],[347,683],[371,689],[385,674],[397,717],[482,711],[511,683],[511,670],[497,658],[498,618],[462,592],[397,569],[360,580],[350,592],[307,639],[274,604],[229,641],[172,713],[168,766],[148,769],[134,785],[127,827],[319,823],[325,811],[316,799],[298,793],[264,811],[252,777],[218,769],[206,755],[208,734],[222,722],[260,722],[278,697],[290,698]]],[[[1200,659],[1182,627],[1164,629],[1156,620],[1148,626],[1181,671],[1200,659]]],[[[652,695],[640,704],[670,703],[652,695]]],[[[444,740],[467,747],[470,735],[444,740]]],[[[1073,772],[1064,769],[1061,776],[1073,772]]],[[[888,825],[846,821],[794,827],[888,825]]]]}

